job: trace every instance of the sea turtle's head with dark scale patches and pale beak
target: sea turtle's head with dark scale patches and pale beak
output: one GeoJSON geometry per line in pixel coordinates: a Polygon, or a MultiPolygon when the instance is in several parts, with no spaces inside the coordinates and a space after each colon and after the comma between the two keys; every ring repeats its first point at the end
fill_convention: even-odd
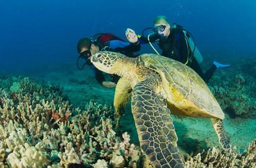
{"type": "Polygon", "coordinates": [[[126,56],[118,52],[101,51],[92,55],[92,64],[103,72],[108,74],[118,74],[120,60],[126,56]]]}

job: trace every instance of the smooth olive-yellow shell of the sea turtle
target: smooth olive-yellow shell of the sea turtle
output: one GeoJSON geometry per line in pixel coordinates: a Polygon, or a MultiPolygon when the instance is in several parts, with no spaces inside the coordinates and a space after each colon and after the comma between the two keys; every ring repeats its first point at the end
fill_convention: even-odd
{"type": "Polygon", "coordinates": [[[225,115],[203,79],[190,67],[157,54],[142,54],[139,64],[162,79],[160,91],[173,114],[224,119],[225,115]]]}

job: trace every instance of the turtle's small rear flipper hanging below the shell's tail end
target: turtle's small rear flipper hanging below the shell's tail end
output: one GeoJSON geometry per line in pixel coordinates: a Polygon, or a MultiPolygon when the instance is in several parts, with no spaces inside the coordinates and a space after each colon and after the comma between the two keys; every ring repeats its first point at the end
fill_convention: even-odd
{"type": "Polygon", "coordinates": [[[211,118],[211,121],[212,121],[214,130],[219,138],[220,145],[222,145],[224,149],[229,149],[230,140],[229,140],[229,137],[227,136],[227,132],[225,131],[223,121],[218,118],[211,118]]]}

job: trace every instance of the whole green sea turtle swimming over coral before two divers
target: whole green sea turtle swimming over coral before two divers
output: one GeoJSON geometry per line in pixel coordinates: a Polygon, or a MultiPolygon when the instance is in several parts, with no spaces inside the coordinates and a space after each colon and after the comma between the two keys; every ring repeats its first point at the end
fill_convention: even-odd
{"type": "Polygon", "coordinates": [[[122,77],[116,86],[114,107],[119,115],[132,97],[140,147],[153,167],[183,167],[171,114],[211,118],[220,144],[229,148],[224,112],[192,68],[155,54],[128,58],[116,52],[97,52],[91,61],[99,70],[122,77]]]}

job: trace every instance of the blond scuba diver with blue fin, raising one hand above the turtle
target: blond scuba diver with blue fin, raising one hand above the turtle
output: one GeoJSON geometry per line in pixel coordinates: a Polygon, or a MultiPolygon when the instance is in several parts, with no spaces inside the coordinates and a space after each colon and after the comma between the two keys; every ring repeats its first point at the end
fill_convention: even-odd
{"type": "Polygon", "coordinates": [[[175,59],[188,65],[188,67],[194,69],[206,83],[211,79],[216,68],[230,66],[214,61],[211,68],[203,73],[199,65],[199,63],[203,61],[203,57],[196,47],[194,37],[190,32],[183,29],[180,25],[173,24],[171,26],[165,16],[157,16],[153,24],[153,28],[144,29],[144,31],[153,29],[153,32],[147,37],[144,36],[144,31],[142,32],[142,36],[137,36],[133,30],[128,28],[127,32],[131,33],[127,36],[127,40],[131,43],[134,43],[134,41],[138,41],[141,44],[149,43],[153,50],[159,54],[151,44],[151,42],[158,42],[159,48],[162,50],[162,56],[175,59]]]}

